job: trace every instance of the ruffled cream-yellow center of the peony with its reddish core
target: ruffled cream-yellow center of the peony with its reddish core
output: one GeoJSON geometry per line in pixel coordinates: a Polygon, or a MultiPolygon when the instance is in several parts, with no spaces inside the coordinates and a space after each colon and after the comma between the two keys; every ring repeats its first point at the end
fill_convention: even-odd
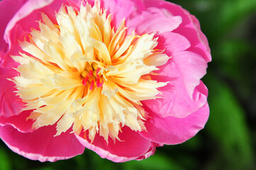
{"type": "Polygon", "coordinates": [[[123,126],[145,130],[140,101],[157,98],[167,84],[150,78],[169,60],[155,50],[154,34],[127,35],[124,20],[112,28],[99,2],[79,11],[62,6],[56,20],[42,13],[39,29],[21,42],[26,54],[13,56],[20,75],[12,81],[23,110],[33,110],[33,128],[57,123],[56,135],[72,127],[91,142],[96,133],[116,140],[123,126]]]}

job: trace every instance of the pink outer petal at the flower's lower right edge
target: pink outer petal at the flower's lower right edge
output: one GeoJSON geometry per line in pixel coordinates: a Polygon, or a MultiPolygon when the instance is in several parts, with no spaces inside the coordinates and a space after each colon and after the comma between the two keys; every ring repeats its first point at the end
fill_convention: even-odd
{"type": "Polygon", "coordinates": [[[209,115],[208,104],[186,118],[161,118],[149,109],[146,111],[149,111],[152,118],[145,123],[148,132],[140,132],[140,135],[152,142],[166,145],[179,144],[194,137],[204,128],[209,115]]]}

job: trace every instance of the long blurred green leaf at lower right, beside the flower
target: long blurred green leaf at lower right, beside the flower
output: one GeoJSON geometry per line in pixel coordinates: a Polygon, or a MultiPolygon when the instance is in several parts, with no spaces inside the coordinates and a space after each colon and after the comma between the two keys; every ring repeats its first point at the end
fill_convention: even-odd
{"type": "Polygon", "coordinates": [[[212,74],[208,77],[210,118],[206,129],[219,145],[211,169],[248,169],[252,166],[253,149],[245,112],[227,84],[212,74]]]}

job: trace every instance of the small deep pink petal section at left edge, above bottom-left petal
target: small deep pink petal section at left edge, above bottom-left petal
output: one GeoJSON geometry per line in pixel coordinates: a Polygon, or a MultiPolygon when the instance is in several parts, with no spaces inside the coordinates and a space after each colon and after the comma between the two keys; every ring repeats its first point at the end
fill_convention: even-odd
{"type": "Polygon", "coordinates": [[[8,118],[0,116],[0,125],[11,125],[19,132],[32,132],[33,120],[27,120],[29,115],[30,111],[23,111],[8,118]]]}

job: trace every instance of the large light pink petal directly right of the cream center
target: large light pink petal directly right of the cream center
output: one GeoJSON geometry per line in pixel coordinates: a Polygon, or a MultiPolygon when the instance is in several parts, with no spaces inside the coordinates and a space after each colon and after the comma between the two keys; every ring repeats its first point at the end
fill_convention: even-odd
{"type": "Polygon", "coordinates": [[[162,98],[143,101],[143,105],[162,117],[184,118],[207,103],[208,91],[200,81],[206,73],[206,62],[193,52],[173,55],[160,67],[159,74],[152,77],[157,81],[169,81],[167,86],[160,88],[162,98]]]}

